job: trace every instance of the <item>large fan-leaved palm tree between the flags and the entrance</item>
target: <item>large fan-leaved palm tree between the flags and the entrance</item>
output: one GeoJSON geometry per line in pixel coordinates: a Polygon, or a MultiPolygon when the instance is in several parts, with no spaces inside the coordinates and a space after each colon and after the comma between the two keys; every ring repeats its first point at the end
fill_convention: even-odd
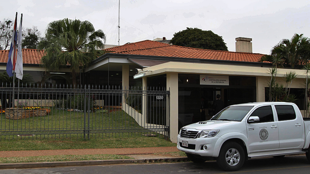
{"type": "Polygon", "coordinates": [[[38,50],[45,50],[41,66],[48,72],[70,67],[75,86],[80,70],[92,60],[104,54],[105,34],[97,30],[89,21],[63,20],[48,24],[45,39],[40,41],[38,50]]]}

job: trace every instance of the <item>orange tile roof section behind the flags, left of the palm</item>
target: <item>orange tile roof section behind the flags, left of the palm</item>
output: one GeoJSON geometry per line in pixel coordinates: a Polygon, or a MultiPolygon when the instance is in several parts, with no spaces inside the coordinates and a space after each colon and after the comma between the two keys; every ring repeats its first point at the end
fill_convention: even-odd
{"type": "MultiPolygon", "coordinates": [[[[23,63],[40,64],[40,59],[44,55],[44,50],[22,49],[23,63]]],[[[15,55],[16,58],[17,54],[15,55]]],[[[7,63],[9,50],[0,50],[0,63],[7,63]]]]}

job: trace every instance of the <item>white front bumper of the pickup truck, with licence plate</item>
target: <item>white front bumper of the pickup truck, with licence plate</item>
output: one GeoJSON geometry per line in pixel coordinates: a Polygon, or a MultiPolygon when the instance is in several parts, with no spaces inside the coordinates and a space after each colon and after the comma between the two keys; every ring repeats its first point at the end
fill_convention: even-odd
{"type": "Polygon", "coordinates": [[[215,150],[218,150],[219,148],[216,148],[216,142],[218,140],[222,140],[222,138],[215,136],[215,137],[207,137],[207,138],[195,138],[195,139],[187,139],[182,138],[180,135],[178,135],[178,146],[177,148],[183,152],[190,153],[190,154],[197,154],[200,156],[206,156],[206,157],[217,157],[214,153],[215,150]],[[188,141],[188,147],[182,147],[182,141],[188,141]],[[194,146],[195,145],[195,146],[194,146]],[[203,146],[206,145],[207,149],[204,150],[203,146]]]}

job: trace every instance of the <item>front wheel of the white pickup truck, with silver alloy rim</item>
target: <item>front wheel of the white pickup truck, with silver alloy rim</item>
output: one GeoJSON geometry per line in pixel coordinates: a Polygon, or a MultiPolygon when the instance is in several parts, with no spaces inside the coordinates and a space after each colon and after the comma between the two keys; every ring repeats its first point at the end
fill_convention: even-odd
{"type": "Polygon", "coordinates": [[[242,146],[237,142],[227,142],[221,147],[216,162],[225,171],[236,171],[243,166],[244,160],[245,154],[242,146]]]}

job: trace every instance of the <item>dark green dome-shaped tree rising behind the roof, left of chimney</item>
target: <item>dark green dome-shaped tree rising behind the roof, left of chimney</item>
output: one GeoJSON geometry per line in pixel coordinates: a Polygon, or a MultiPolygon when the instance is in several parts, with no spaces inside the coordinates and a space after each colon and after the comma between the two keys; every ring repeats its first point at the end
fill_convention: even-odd
{"type": "Polygon", "coordinates": [[[198,28],[187,28],[175,33],[170,43],[176,46],[228,51],[222,36],[198,28]]]}

